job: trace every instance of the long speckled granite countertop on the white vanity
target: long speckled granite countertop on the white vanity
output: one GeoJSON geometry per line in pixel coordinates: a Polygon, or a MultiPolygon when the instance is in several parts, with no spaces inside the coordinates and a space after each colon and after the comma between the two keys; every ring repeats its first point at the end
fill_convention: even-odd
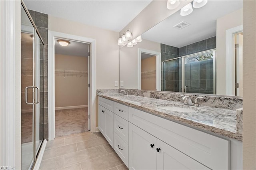
{"type": "MultiPolygon", "coordinates": [[[[242,141],[242,134],[236,127],[236,111],[229,109],[212,108],[207,106],[189,106],[180,102],[140,97],[135,95],[123,95],[121,93],[98,93],[98,96],[146,111],[176,122],[184,123],[192,127],[201,128],[242,141]],[[195,113],[182,113],[160,109],[159,106],[172,106],[193,109],[195,113]]],[[[200,103],[199,103],[200,105],[200,103]]]]}

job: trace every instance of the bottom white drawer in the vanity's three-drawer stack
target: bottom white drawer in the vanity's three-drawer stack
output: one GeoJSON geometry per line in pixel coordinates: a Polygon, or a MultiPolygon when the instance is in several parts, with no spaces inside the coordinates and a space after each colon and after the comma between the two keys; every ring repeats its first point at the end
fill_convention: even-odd
{"type": "Polygon", "coordinates": [[[124,142],[115,132],[114,132],[114,150],[118,156],[122,159],[124,164],[128,166],[128,144],[124,142]]]}

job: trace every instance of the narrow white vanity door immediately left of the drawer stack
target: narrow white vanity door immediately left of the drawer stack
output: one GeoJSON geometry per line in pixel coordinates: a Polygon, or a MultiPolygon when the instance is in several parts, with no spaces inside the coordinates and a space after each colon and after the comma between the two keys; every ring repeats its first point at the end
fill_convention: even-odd
{"type": "Polygon", "coordinates": [[[106,140],[113,148],[113,139],[114,139],[114,113],[106,109],[105,111],[105,134],[106,140]]]}

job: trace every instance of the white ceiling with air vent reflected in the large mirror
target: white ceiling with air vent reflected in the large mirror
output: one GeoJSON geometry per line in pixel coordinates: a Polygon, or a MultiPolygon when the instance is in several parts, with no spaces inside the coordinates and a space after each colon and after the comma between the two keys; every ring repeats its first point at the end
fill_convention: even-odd
{"type": "Polygon", "coordinates": [[[144,34],[142,39],[183,47],[216,36],[216,19],[243,7],[242,0],[208,0],[202,8],[194,9],[188,16],[180,16],[180,10],[166,18],[144,34]],[[180,22],[190,25],[174,28],[180,22]]]}

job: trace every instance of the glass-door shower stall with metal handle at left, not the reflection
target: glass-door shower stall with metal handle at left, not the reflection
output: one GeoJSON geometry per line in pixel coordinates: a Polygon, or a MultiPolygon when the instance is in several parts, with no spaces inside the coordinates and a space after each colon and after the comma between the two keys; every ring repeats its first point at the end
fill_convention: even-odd
{"type": "Polygon", "coordinates": [[[44,42],[21,1],[22,170],[32,169],[44,140],[44,42]]]}

